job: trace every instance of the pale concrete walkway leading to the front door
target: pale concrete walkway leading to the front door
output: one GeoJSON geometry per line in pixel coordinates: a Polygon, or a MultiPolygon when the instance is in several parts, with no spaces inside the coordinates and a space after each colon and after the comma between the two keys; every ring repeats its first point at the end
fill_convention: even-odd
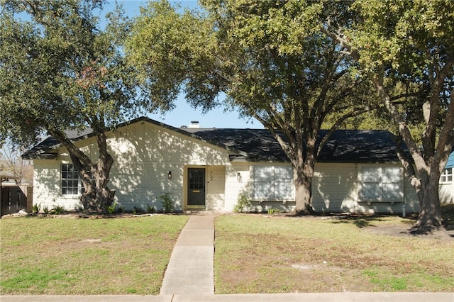
{"type": "Polygon", "coordinates": [[[189,217],[170,256],[161,296],[214,295],[214,217],[189,217]]]}

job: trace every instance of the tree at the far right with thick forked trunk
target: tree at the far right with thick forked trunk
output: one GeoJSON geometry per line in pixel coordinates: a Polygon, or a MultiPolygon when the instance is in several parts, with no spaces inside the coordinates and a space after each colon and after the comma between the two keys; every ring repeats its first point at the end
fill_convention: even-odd
{"type": "Polygon", "coordinates": [[[359,21],[350,28],[327,18],[323,30],[360,63],[409,148],[411,158],[402,152],[399,158],[419,196],[413,228],[438,228],[438,181],[454,147],[454,2],[358,0],[352,11],[359,21]],[[426,89],[408,104],[421,123],[417,133],[411,132],[408,111],[391,101],[402,83],[426,89]]]}

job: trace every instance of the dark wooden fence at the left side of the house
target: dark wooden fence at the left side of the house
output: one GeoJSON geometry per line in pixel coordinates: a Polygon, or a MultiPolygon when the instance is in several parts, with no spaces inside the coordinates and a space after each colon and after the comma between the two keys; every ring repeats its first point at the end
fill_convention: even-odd
{"type": "Polygon", "coordinates": [[[32,211],[33,186],[0,186],[0,216],[32,211]]]}

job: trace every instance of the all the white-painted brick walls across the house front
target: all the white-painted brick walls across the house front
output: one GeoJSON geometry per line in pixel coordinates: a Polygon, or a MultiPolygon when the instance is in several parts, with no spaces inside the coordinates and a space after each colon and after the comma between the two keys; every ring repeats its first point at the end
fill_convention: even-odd
{"type": "MultiPolygon", "coordinates": [[[[152,123],[135,123],[108,133],[109,150],[114,157],[109,188],[116,190],[118,206],[146,210],[147,205],[162,209],[158,196],[170,193],[176,209],[187,204],[188,167],[206,168],[206,208],[233,211],[239,194],[249,195],[250,171],[255,162],[230,162],[228,152],[187,135],[152,123]],[[172,172],[172,179],[167,172],[172,172]],[[240,177],[238,178],[238,172],[240,177]]],[[[94,159],[94,138],[77,142],[94,159]],[[82,145],[83,144],[83,145],[82,145]]],[[[70,162],[65,149],[57,150],[56,160],[35,160],[33,202],[49,208],[79,208],[79,196],[62,196],[60,164],[70,162]]],[[[314,208],[319,212],[401,213],[402,203],[358,203],[357,164],[316,164],[313,179],[314,208]]],[[[419,211],[414,189],[404,179],[406,212],[419,211]]],[[[255,203],[258,211],[279,208],[291,211],[294,201],[255,203]]]]}

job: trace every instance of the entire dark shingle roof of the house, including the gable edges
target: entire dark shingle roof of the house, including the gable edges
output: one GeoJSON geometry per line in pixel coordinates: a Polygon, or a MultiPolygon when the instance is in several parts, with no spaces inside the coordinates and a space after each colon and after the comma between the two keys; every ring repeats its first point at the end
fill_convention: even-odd
{"type": "MultiPolygon", "coordinates": [[[[136,118],[126,124],[147,121],[164,128],[204,140],[231,152],[232,160],[253,162],[289,162],[279,143],[266,129],[228,129],[228,128],[174,128],[150,118],[136,118]]],[[[319,141],[326,135],[326,130],[319,133],[319,141]]],[[[70,131],[72,140],[82,140],[92,135],[87,128],[83,133],[70,131]]],[[[55,158],[52,153],[60,143],[52,137],[28,150],[24,158],[55,158]]],[[[398,162],[392,133],[383,130],[337,130],[323,146],[318,162],[398,162]]]]}

